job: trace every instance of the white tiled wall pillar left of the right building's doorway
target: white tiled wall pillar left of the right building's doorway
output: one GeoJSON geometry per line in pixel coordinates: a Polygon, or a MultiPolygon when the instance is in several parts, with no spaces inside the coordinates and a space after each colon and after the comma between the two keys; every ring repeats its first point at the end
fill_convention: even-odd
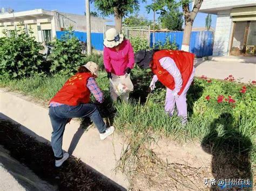
{"type": "Polygon", "coordinates": [[[228,55],[232,26],[230,11],[219,11],[216,22],[213,55],[228,55]]]}

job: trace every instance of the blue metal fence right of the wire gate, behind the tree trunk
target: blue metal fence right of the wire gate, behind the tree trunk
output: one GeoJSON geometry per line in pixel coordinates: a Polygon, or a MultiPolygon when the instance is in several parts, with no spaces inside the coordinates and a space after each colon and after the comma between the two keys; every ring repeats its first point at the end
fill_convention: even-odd
{"type": "MultiPolygon", "coordinates": [[[[165,43],[166,38],[175,41],[178,49],[181,49],[184,32],[156,32],[156,43],[165,43]]],[[[153,33],[150,34],[150,46],[153,46],[153,33]]],[[[213,51],[213,33],[211,31],[193,31],[190,37],[190,52],[197,57],[210,56],[213,51]]]]}

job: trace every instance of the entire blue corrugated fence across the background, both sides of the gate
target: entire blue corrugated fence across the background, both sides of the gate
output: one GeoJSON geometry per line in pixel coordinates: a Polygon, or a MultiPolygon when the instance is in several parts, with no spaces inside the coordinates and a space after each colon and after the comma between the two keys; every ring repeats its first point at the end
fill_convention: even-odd
{"type": "MultiPolygon", "coordinates": [[[[64,31],[57,31],[56,36],[58,39],[64,34],[64,31]]],[[[74,32],[75,36],[81,40],[86,41],[86,32],[74,32]]],[[[176,41],[179,49],[181,49],[183,32],[156,32],[156,43],[165,43],[166,38],[170,38],[170,41],[176,41]]],[[[103,33],[91,33],[92,47],[103,51],[103,33]]],[[[153,46],[153,33],[150,34],[150,45],[153,46]]],[[[196,54],[197,57],[210,56],[213,51],[213,33],[211,31],[193,31],[190,38],[190,52],[196,54]]]]}

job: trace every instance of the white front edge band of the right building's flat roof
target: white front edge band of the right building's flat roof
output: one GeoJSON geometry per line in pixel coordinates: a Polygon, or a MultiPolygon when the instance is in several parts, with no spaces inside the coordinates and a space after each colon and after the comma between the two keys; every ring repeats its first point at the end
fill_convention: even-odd
{"type": "Polygon", "coordinates": [[[200,10],[255,4],[256,0],[204,0],[200,10]]]}

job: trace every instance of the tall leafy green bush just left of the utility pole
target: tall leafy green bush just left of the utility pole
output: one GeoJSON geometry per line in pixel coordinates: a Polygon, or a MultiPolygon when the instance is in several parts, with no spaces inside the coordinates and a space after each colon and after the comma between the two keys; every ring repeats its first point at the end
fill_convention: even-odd
{"type": "Polygon", "coordinates": [[[81,53],[82,45],[74,36],[72,27],[60,39],[55,39],[49,59],[52,60],[50,72],[59,74],[73,74],[79,66],[85,64],[85,56],[81,53]]]}

